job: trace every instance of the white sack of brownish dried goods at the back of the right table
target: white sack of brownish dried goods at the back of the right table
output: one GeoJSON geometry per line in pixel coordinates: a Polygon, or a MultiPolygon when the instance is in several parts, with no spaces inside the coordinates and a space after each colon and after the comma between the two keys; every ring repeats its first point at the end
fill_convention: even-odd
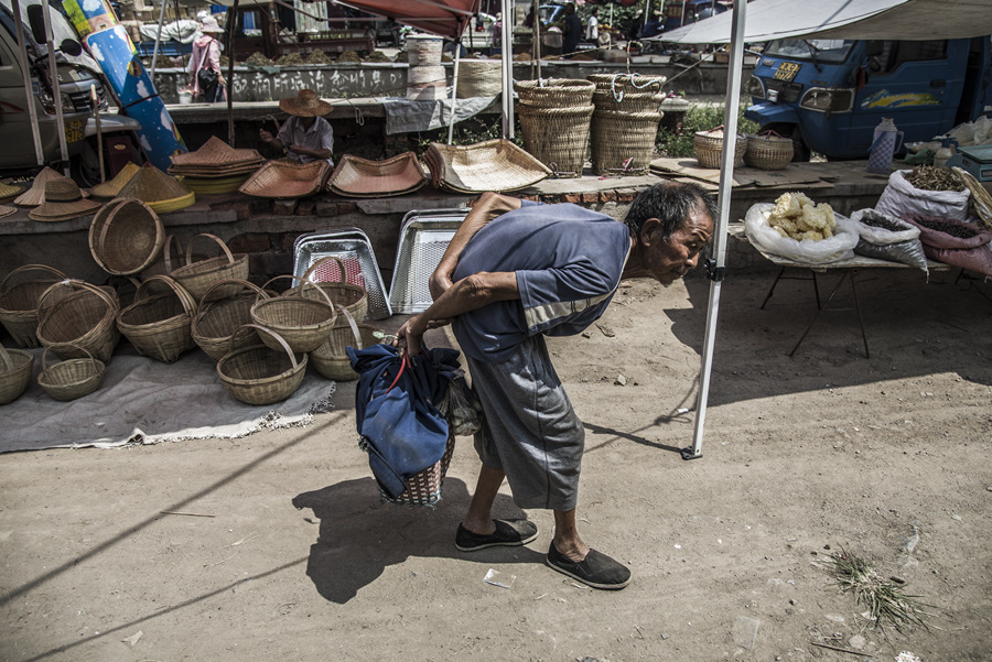
{"type": "Polygon", "coordinates": [[[971,192],[951,171],[931,165],[898,170],[888,177],[875,211],[886,216],[932,216],[967,220],[971,192]]]}

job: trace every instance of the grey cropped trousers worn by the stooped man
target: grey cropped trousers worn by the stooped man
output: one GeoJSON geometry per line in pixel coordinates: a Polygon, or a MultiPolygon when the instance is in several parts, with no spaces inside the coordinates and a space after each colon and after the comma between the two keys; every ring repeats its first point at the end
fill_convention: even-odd
{"type": "Polygon", "coordinates": [[[575,508],[585,428],[554,372],[544,337],[528,338],[503,363],[465,359],[486,413],[475,435],[483,465],[506,473],[519,508],[575,508]]]}

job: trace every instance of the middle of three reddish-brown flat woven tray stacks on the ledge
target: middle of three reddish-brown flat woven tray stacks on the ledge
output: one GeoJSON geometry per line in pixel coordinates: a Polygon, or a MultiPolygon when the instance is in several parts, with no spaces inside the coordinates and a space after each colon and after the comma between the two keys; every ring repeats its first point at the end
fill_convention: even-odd
{"type": "Polygon", "coordinates": [[[346,197],[385,197],[417,191],[425,182],[423,167],[413,152],[386,161],[345,154],[331,173],[327,188],[346,197]]]}

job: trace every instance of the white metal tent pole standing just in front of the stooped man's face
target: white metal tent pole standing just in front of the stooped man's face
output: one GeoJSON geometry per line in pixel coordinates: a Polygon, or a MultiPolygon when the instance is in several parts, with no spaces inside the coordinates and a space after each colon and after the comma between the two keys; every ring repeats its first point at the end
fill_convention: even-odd
{"type": "Polygon", "coordinates": [[[710,397],[710,372],[713,368],[713,346],[716,340],[716,313],[720,308],[720,286],[726,261],[726,226],[730,223],[731,189],[734,182],[734,144],[737,135],[737,113],[741,107],[741,78],[744,59],[744,14],[746,2],[734,2],[733,29],[730,50],[730,75],[726,79],[726,109],[723,115],[723,144],[720,163],[720,218],[713,232],[713,259],[707,260],[710,278],[710,307],[707,313],[707,333],[703,340],[702,365],[699,370],[699,395],[696,402],[696,426],[692,446],[682,448],[683,459],[702,456],[703,425],[707,420],[707,401],[710,397]]]}

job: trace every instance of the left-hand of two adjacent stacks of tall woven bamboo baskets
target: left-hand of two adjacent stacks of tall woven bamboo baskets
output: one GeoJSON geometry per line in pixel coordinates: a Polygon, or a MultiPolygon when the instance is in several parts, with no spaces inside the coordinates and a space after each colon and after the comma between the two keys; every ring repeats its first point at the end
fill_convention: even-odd
{"type": "Polygon", "coordinates": [[[589,148],[595,84],[589,80],[519,80],[524,148],[559,177],[579,177],[589,148]]]}

